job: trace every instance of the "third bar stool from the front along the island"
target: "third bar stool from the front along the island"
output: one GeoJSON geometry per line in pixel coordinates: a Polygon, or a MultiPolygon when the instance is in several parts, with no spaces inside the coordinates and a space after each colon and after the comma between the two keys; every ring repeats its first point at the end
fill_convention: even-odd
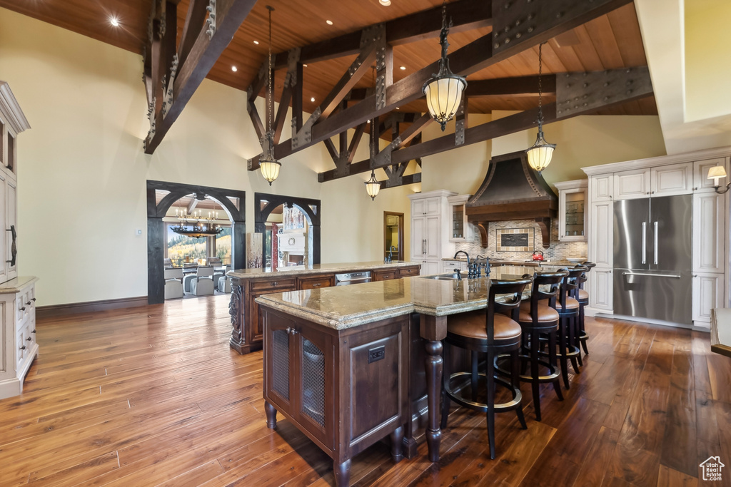
{"type": "Polygon", "coordinates": [[[564,386],[569,389],[569,359],[574,372],[580,373],[577,363],[579,348],[576,345],[578,336],[577,321],[579,317],[579,302],[574,297],[579,288],[578,278],[586,272],[586,267],[575,266],[568,270],[568,275],[561,282],[558,292],[556,311],[561,319],[558,321],[558,358],[561,360],[561,375],[564,377],[564,386]]]}

